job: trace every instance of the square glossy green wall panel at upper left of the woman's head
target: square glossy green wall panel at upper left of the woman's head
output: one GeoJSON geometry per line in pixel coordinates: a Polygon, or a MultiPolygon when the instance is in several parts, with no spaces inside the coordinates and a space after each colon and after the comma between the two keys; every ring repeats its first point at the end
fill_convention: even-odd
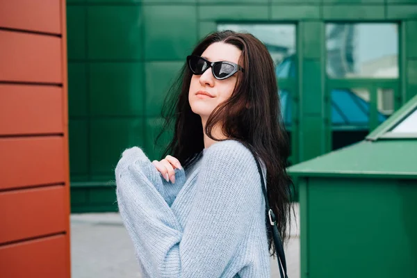
{"type": "Polygon", "coordinates": [[[145,57],[184,59],[197,41],[195,6],[144,6],[145,57]]]}

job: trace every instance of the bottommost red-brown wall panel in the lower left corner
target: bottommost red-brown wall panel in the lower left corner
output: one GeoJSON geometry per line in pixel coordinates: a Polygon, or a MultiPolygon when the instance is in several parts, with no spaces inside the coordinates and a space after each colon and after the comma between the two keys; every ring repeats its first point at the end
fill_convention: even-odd
{"type": "Polygon", "coordinates": [[[65,236],[0,246],[1,277],[70,277],[65,236]]]}

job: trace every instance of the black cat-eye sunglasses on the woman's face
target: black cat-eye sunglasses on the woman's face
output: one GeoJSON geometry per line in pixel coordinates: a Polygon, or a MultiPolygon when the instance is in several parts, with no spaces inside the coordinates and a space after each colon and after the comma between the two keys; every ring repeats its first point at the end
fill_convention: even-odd
{"type": "Polygon", "coordinates": [[[187,65],[190,68],[191,72],[195,75],[202,75],[211,67],[211,72],[215,79],[223,80],[227,79],[230,76],[236,74],[239,70],[245,72],[243,67],[236,65],[235,63],[221,61],[221,62],[210,62],[200,56],[187,56],[187,65]]]}

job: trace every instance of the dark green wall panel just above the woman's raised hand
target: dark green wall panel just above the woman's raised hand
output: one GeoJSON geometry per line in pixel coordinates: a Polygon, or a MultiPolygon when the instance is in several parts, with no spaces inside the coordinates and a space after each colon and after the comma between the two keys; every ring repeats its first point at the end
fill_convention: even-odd
{"type": "Polygon", "coordinates": [[[148,118],[146,120],[146,154],[151,161],[160,160],[163,151],[172,139],[172,131],[167,130],[157,142],[156,137],[162,130],[164,121],[160,117],[148,118]]]}

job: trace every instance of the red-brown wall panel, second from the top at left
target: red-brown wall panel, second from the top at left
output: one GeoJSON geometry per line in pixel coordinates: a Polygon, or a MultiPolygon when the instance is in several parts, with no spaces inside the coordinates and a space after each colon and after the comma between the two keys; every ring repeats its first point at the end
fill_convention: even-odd
{"type": "Polygon", "coordinates": [[[0,30],[0,81],[63,83],[61,38],[0,30]]]}

